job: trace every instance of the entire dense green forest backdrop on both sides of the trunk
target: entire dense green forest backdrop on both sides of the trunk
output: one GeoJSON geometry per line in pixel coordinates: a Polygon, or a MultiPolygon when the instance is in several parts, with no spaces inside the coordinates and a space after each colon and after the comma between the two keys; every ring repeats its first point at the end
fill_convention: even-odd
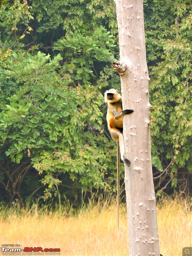
{"type": "MultiPolygon", "coordinates": [[[[192,192],[191,18],[191,1],[144,0],[157,196],[192,192]]],[[[114,1],[1,0],[0,56],[0,203],[114,194],[103,98],[121,91],[114,1]]],[[[122,198],[123,179],[121,164],[122,198]]]]}

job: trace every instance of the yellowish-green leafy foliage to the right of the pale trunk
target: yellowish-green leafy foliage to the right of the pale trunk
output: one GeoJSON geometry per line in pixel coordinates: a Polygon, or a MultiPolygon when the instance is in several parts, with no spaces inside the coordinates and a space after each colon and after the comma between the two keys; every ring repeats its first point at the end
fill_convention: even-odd
{"type": "MultiPolygon", "coordinates": [[[[154,29],[146,33],[150,35],[147,43],[153,45],[149,63],[159,60],[150,67],[151,139],[156,154],[152,162],[159,171],[163,171],[160,162],[163,168],[169,162],[170,174],[180,168],[191,172],[191,5],[188,1],[167,2],[162,9],[162,2],[153,4],[151,19],[155,24],[150,26],[154,29]]],[[[176,178],[171,186],[177,186],[176,178]]]]}

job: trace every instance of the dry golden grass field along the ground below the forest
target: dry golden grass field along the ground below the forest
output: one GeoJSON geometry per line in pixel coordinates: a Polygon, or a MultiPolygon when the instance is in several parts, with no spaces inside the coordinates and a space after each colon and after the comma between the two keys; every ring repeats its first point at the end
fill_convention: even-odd
{"type": "MultiPolygon", "coordinates": [[[[166,200],[157,205],[160,252],[182,255],[191,244],[190,204],[166,200]]],[[[74,214],[72,209],[23,212],[1,209],[1,244],[24,247],[60,248],[60,255],[129,255],[125,205],[120,207],[120,233],[116,232],[116,204],[90,205],[74,214]],[[68,214],[68,217],[66,217],[68,214]]]]}

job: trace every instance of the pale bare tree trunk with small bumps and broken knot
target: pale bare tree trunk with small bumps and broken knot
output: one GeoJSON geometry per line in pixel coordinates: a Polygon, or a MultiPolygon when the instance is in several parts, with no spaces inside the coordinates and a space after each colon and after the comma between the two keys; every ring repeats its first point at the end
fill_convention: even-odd
{"type": "Polygon", "coordinates": [[[126,158],[125,190],[129,255],[159,256],[156,198],[151,164],[149,76],[146,62],[142,0],[114,0],[119,31],[120,62],[113,67],[121,77],[126,158]]]}

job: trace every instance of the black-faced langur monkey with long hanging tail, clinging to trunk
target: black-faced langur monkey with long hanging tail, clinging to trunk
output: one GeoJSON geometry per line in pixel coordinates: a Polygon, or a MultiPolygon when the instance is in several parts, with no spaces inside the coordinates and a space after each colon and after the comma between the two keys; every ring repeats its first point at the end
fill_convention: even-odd
{"type": "Polygon", "coordinates": [[[121,160],[130,166],[130,161],[125,157],[123,138],[123,116],[132,113],[132,109],[123,109],[122,97],[116,89],[105,92],[105,102],[108,104],[107,124],[113,140],[117,142],[117,230],[119,230],[119,148],[121,160]]]}

